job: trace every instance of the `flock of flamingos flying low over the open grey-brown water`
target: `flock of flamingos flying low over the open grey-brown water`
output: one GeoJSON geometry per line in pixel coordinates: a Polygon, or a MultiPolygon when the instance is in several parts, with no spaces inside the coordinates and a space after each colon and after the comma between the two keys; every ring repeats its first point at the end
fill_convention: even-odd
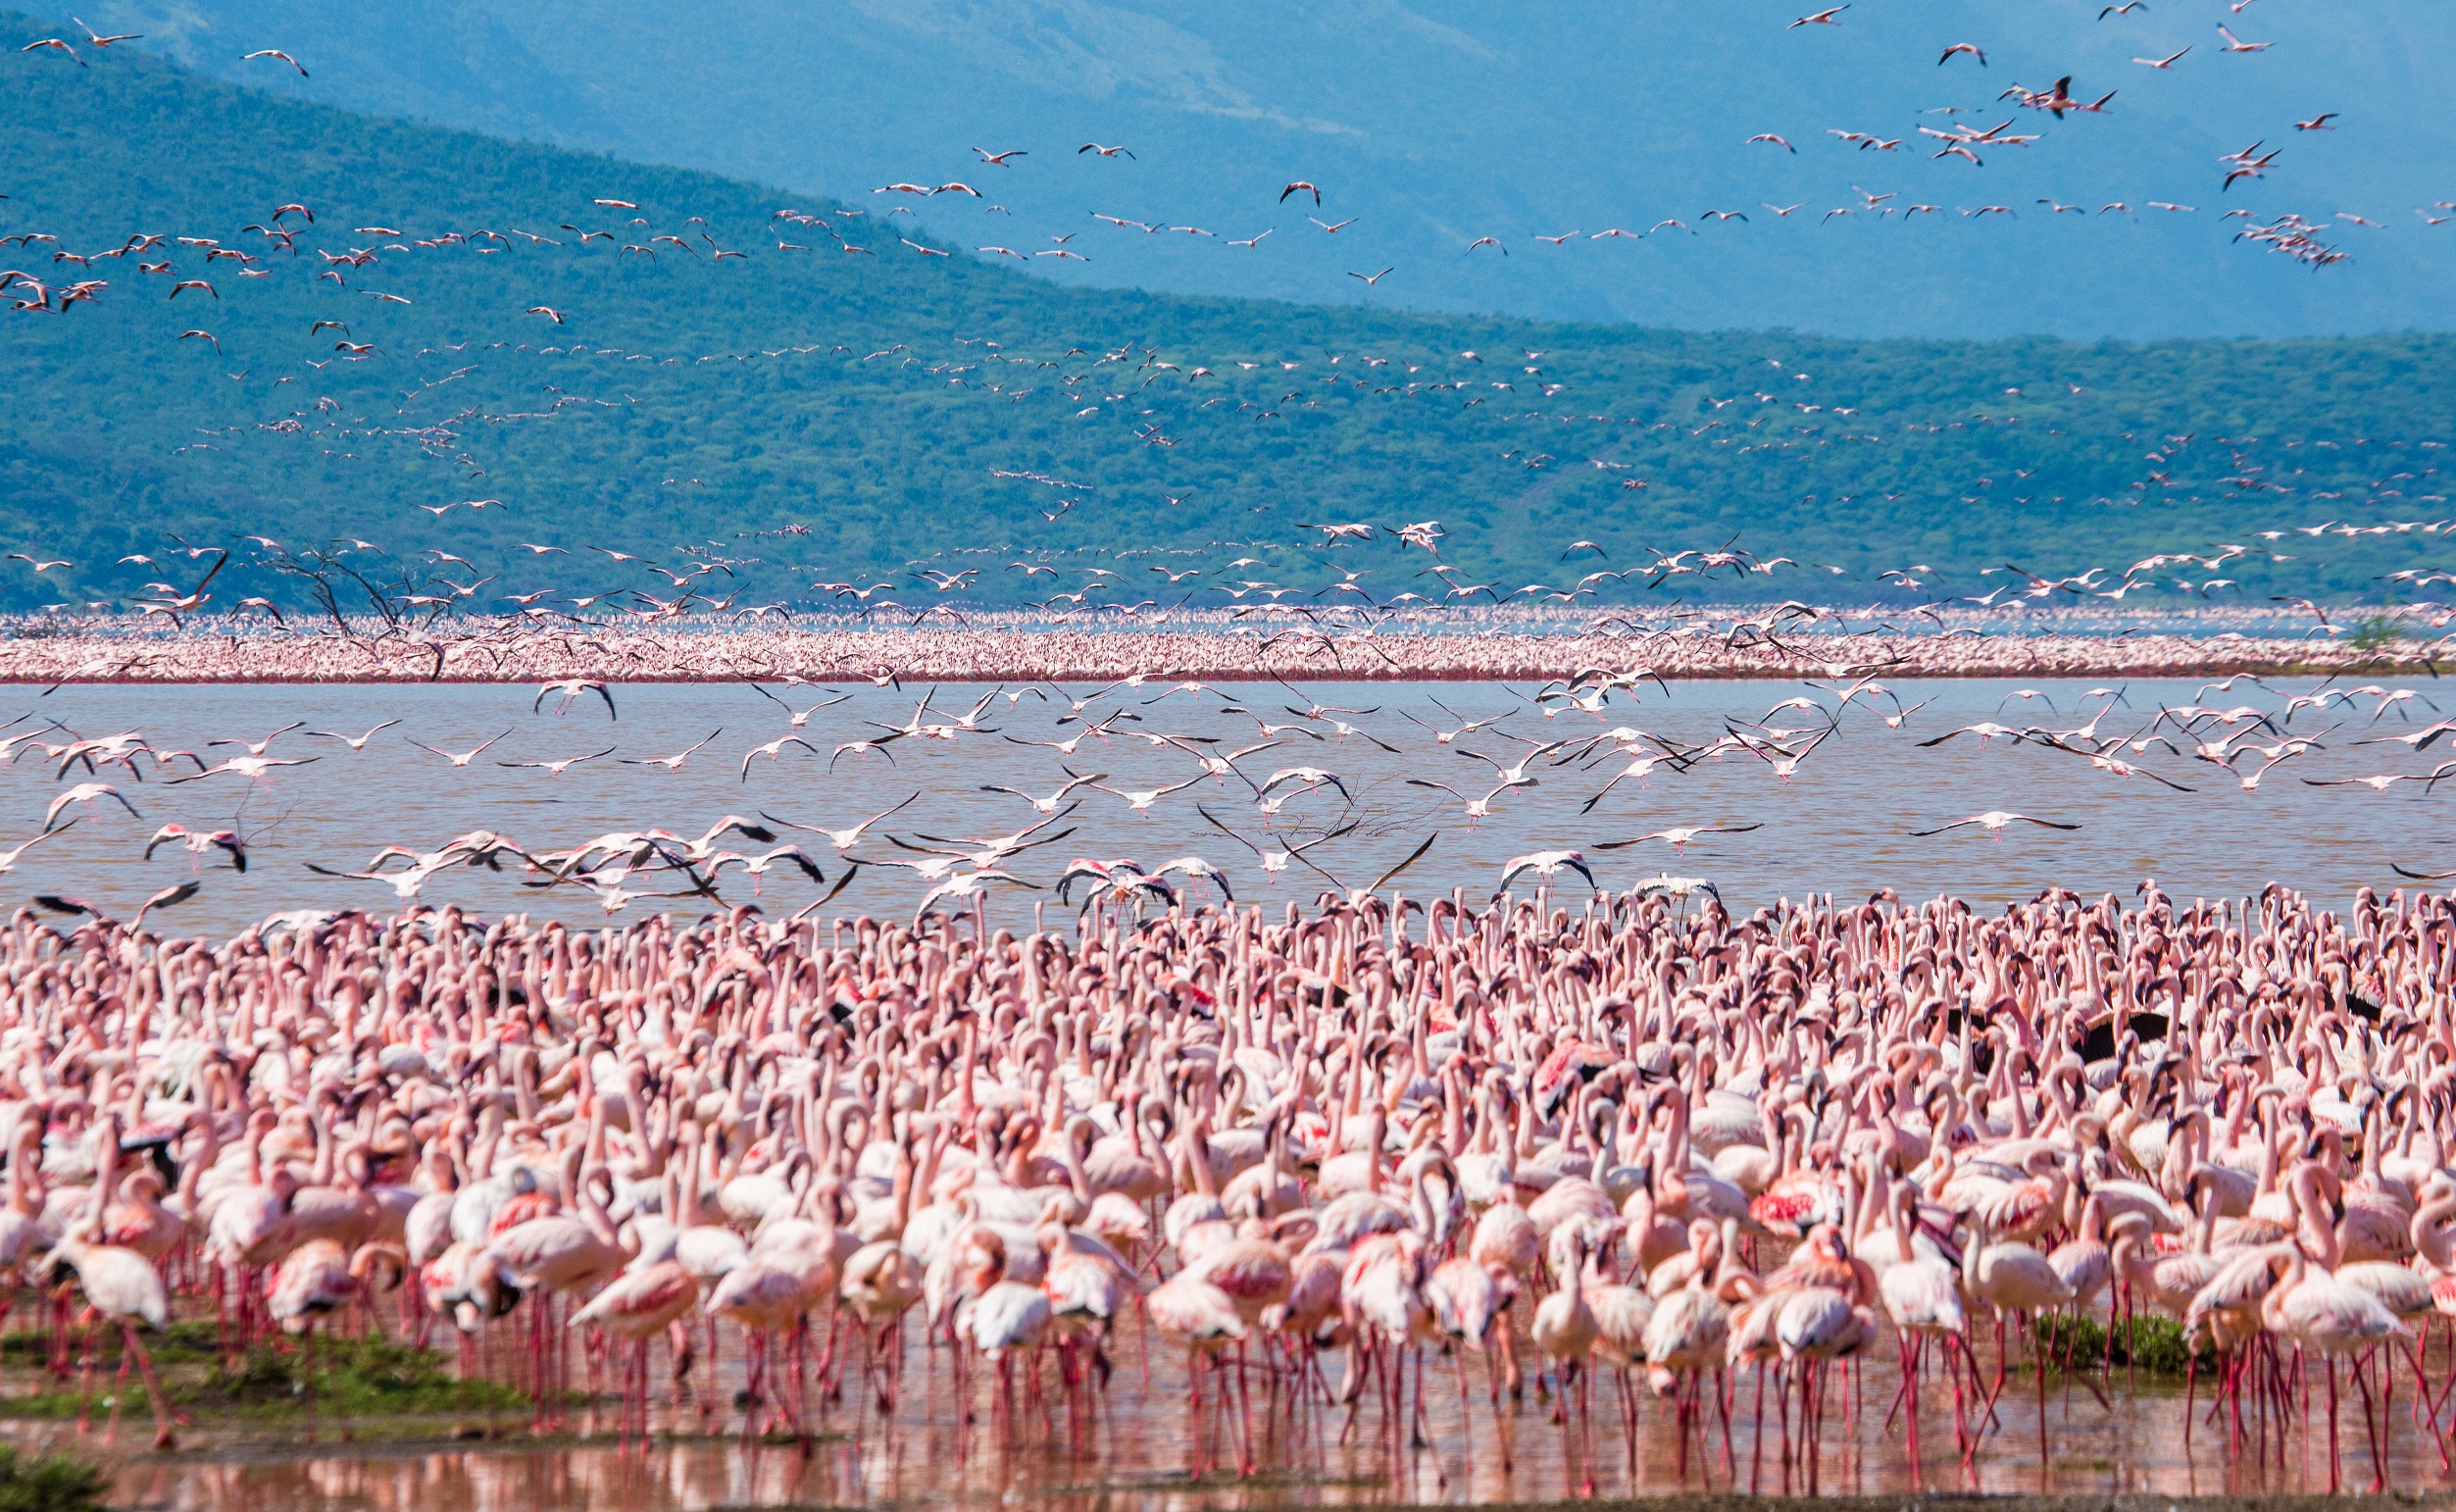
{"type": "MultiPolygon", "coordinates": [[[[1614,717],[1614,700],[1638,702],[1648,690],[1670,692],[1670,685],[1643,665],[1636,670],[1594,668],[1577,677],[1545,682],[1533,695],[1501,685],[1508,702],[1476,717],[1459,714],[1432,695],[1407,700],[1410,707],[1395,712],[1415,727],[1412,731],[1395,724],[1380,702],[1326,704],[1289,682],[1223,685],[1159,675],[1132,675],[1088,690],[1068,690],[1056,682],[997,685],[973,697],[970,707],[960,712],[941,709],[941,687],[931,687],[901,719],[869,714],[867,709],[879,697],[892,700],[892,690],[901,685],[892,670],[869,677],[877,692],[862,702],[855,692],[801,677],[786,677],[783,692],[779,692],[756,675],[739,675],[739,685],[774,704],[769,729],[754,727],[744,734],[739,717],[725,717],[727,702],[712,700],[710,714],[722,722],[678,751],[658,754],[631,754],[621,741],[609,739],[572,744],[565,751],[516,749],[506,758],[496,746],[513,736],[508,727],[459,739],[398,734],[391,739],[422,756],[386,751],[386,731],[410,719],[410,709],[363,731],[305,729],[305,722],[290,722],[260,739],[214,736],[201,749],[152,741],[135,729],[88,736],[59,719],[22,714],[12,722],[20,729],[0,734],[0,761],[10,766],[34,761],[52,773],[59,788],[44,805],[42,830],[12,849],[0,849],[0,874],[7,874],[47,839],[106,812],[125,815],[135,827],[145,827],[150,820],[138,808],[135,795],[142,795],[147,773],[179,773],[167,776],[165,800],[184,798],[177,788],[219,778],[216,790],[241,795],[231,820],[214,827],[172,820],[145,837],[145,862],[152,862],[157,849],[177,844],[189,854],[199,876],[150,896],[133,920],[142,923],[147,911],[172,908],[199,896],[201,862],[214,852],[221,852],[236,871],[246,871],[253,844],[243,817],[248,803],[273,798],[292,768],[329,758],[354,763],[351,771],[368,761],[386,771],[415,771],[425,758],[435,758],[454,773],[472,768],[535,773],[526,778],[526,785],[535,785],[540,795],[565,793],[570,783],[585,783],[585,776],[575,773],[587,763],[656,768],[670,776],[683,773],[695,758],[700,771],[712,761],[732,773],[744,798],[749,798],[749,783],[756,773],[764,803],[793,803],[796,798],[786,795],[798,795],[808,785],[828,793],[845,781],[847,763],[869,768],[865,773],[867,790],[877,790],[879,783],[916,783],[901,800],[842,825],[779,817],[747,805],[749,815],[727,812],[698,827],[698,835],[639,827],[597,835],[570,849],[530,849],[508,835],[474,830],[432,849],[388,844],[361,869],[307,862],[307,869],[319,876],[381,884],[400,903],[418,903],[422,889],[437,879],[464,879],[467,869],[484,866],[494,876],[511,874],[528,889],[587,893],[607,916],[641,901],[732,906],[725,886],[729,886],[727,874],[734,869],[759,893],[764,893],[766,881],[783,876],[801,876],[813,891],[825,886],[796,918],[833,903],[865,871],[872,871],[872,881],[865,886],[867,896],[877,893],[882,879],[909,871],[921,889],[916,913],[946,906],[977,908],[990,891],[1009,889],[1046,893],[1059,903],[1078,903],[1073,893],[1083,889],[1081,906],[1122,901],[1137,911],[1142,906],[1194,908],[1203,898],[1235,906],[1240,886],[1235,879],[1245,862],[1213,859],[1223,844],[1250,852],[1250,864],[1257,866],[1265,889],[1304,896],[1319,881],[1326,884],[1326,889],[1314,889],[1321,898],[1358,903],[1424,862],[1442,842],[1447,825],[1464,825],[1469,832],[1486,822],[1501,825],[1503,832],[1530,825],[1555,830],[1562,822],[1609,827],[1614,812],[1660,812],[1663,795],[1648,793],[1650,783],[1677,781],[1707,763],[1724,761],[1739,761],[1749,768],[1763,763],[1766,776],[1788,788],[1813,771],[1810,758],[1842,736],[1847,722],[1862,727],[1854,736],[1859,741],[1911,741],[1906,754],[1955,741],[1975,741],[1980,749],[1997,741],[2007,749],[2036,746],[2061,758],[2075,758],[2088,771],[2117,783],[2156,785],[2169,793],[2196,793],[2203,778],[2218,781],[2218,773],[2223,773],[2225,788],[2260,793],[2262,781],[2279,766],[2301,761],[2301,771],[2311,771],[2306,758],[2336,746],[2345,751],[2380,749],[2387,756],[2397,756],[2402,749],[2404,756],[2422,758],[2427,766],[2422,771],[2390,768],[2353,776],[2331,766],[2331,776],[2304,776],[2304,785],[2387,793],[2412,783],[2422,795],[2429,795],[2441,781],[2456,781],[2456,761],[2431,756],[2434,746],[2456,734],[2456,719],[2431,719],[2429,714],[2439,714],[2439,704],[2417,687],[2323,677],[2304,692],[2282,692],[2269,690],[2255,675],[2235,675],[2198,687],[2191,702],[2161,702],[2151,712],[2132,707],[2129,687],[2105,685],[2078,695],[2075,707],[2065,709],[2068,724],[2004,722],[1999,709],[1989,719],[1923,734],[1923,722],[1916,717],[1933,702],[1933,687],[1928,697],[1903,702],[1903,687],[1886,680],[1896,675],[1896,668],[1835,663],[1827,673],[1827,680],[1810,680],[1808,692],[1771,702],[1754,719],[1724,714],[1712,736],[1680,734],[1658,717],[1646,717],[1646,724],[1606,724],[1614,717]],[[803,692],[796,695],[796,690],[803,692]],[[2210,700],[2210,695],[2240,700],[2237,690],[2257,690],[2264,702],[2210,700]],[[813,692],[818,697],[810,697],[813,692]],[[823,712],[840,707],[842,712],[820,719],[823,712]],[[1017,724],[1027,709],[1046,709],[1054,722],[1046,729],[1024,727],[1027,734],[1019,734],[1017,724]],[[2397,724],[2382,727],[2387,714],[2395,714],[2397,724]],[[2299,717],[2306,719],[2301,729],[2296,729],[2299,717]],[[2314,727],[2321,719],[2326,724],[2314,727]],[[1218,734],[1218,722],[1230,722],[1235,729],[1218,734]],[[1537,724],[1537,729],[1528,731],[1528,724],[1537,724]],[[725,736],[739,741],[739,749],[720,746],[725,736]],[[1432,766],[1397,744],[1415,741],[1415,736],[1429,736],[1429,746],[1417,744],[1415,751],[1432,756],[1432,766]],[[292,749],[295,741],[327,741],[327,746],[319,754],[275,754],[275,741],[292,741],[292,749]],[[489,756],[491,751],[496,754],[489,756]],[[1049,751],[1049,766],[1039,778],[1014,776],[1022,771],[1022,751],[1049,751]],[[2161,758],[2181,766],[2169,766],[2161,758]],[[120,776],[111,778],[108,768],[118,768],[120,776]],[[968,771],[997,771],[1005,781],[975,783],[965,776],[968,771]],[[81,781],[71,783],[69,778],[81,781]],[[1562,783],[1589,788],[1574,817],[1564,820],[1557,800],[1547,800],[1547,812],[1540,817],[1515,812],[1528,790],[1562,783]],[[906,825],[894,822],[923,793],[958,793],[970,785],[997,800],[1024,803],[1032,820],[1014,832],[990,837],[948,837],[931,830],[906,830],[909,820],[906,825]],[[1424,798],[1429,793],[1442,798],[1424,798]],[[1088,805],[1093,808],[1086,815],[1088,805]],[[1599,808],[1601,817],[1596,817],[1599,808]],[[1017,869],[1032,852],[1059,844],[1083,827],[1093,827],[1103,837],[1100,844],[1115,844],[1152,817],[1169,817],[1172,832],[1194,827],[1199,817],[1208,830],[1196,832],[1216,832],[1221,839],[1208,847],[1211,857],[1181,854],[1152,864],[1135,857],[1081,854],[1039,881],[1017,869]],[[1432,830],[1412,842],[1395,864],[1356,866],[1343,859],[1402,847],[1410,825],[1432,825],[1432,830]],[[1358,830],[1368,832],[1356,837],[1358,830]],[[732,849],[729,842],[737,837],[766,849],[732,849]],[[1361,881],[1356,871],[1375,876],[1361,881]]],[[[535,690],[530,712],[540,714],[548,700],[555,700],[555,714],[572,712],[582,700],[602,704],[609,734],[614,734],[612,724],[619,724],[614,685],[607,680],[550,680],[535,690]]],[[[2011,704],[2043,707],[2056,714],[2053,695],[2038,687],[2007,692],[2002,707],[2011,704]]],[[[420,724],[430,724],[430,717],[420,717],[420,724]]],[[[2068,771],[2078,773],[2080,768],[2068,771]]],[[[503,790],[503,783],[484,783],[481,790],[503,790]]],[[[985,812],[995,808],[997,803],[982,805],[985,812]]],[[[1906,835],[1940,837],[1980,830],[2002,839],[2009,827],[2019,825],[2053,832],[2080,827],[2043,812],[1982,810],[1960,817],[1938,815],[1923,827],[1908,827],[1906,835]]],[[[1619,859],[1616,852],[1663,854],[1677,862],[1709,837],[1739,837],[1763,827],[1761,820],[1685,820],[1623,837],[1584,839],[1577,847],[1515,854],[1498,864],[1491,901],[1501,901],[1530,876],[1550,884],[1574,874],[1584,886],[1601,891],[1596,869],[1606,859],[1619,859]],[[1665,849],[1655,852],[1655,847],[1665,849]]],[[[1788,832],[1788,825],[1783,830],[1788,832]]],[[[1444,862],[1437,859],[1434,866],[1444,866],[1444,862]]],[[[1461,866],[1449,864],[1449,876],[1464,876],[1461,866]]],[[[2456,876],[2456,871],[2409,871],[2402,864],[2395,871],[2417,881],[2456,876]]],[[[1638,876],[1631,886],[1675,898],[1717,891],[1712,879],[1673,876],[1665,869],[1638,876]]],[[[39,896],[39,903],[59,913],[106,913],[98,903],[56,893],[39,896]]]]}

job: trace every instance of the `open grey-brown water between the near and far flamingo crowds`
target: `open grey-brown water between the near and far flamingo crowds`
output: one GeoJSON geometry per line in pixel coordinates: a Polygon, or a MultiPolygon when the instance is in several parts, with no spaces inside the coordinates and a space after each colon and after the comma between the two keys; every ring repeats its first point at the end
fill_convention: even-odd
{"type": "MultiPolygon", "coordinates": [[[[2372,793],[2314,788],[2301,781],[2434,771],[2449,746],[2409,751],[2395,744],[2353,744],[2417,731],[2441,717],[2419,700],[2390,709],[2377,724],[2370,724],[2375,702],[2370,697],[2355,707],[2338,704],[2328,714],[2299,712],[2289,731],[2318,736],[2326,749],[2287,761],[2260,783],[2257,793],[2245,793],[2233,773],[2213,763],[2164,749],[2124,751],[2124,758],[2196,788],[2193,793],[2174,793],[2149,778],[2115,778],[2080,756],[2038,744],[2016,746],[2002,739],[1980,744],[1977,736],[1960,736],[1935,749],[1918,746],[1921,739],[1977,719],[2078,727],[2088,714],[2075,709],[2105,702],[2080,697],[2085,690],[2078,682],[2024,685],[2053,700],[2058,714],[2048,714],[2043,700],[2009,700],[2014,687],[2011,682],[1903,682],[1896,687],[1903,704],[1926,702],[1903,729],[1886,729],[1876,712],[1859,702],[1842,717],[1840,734],[1827,739],[1788,783],[1768,761],[1734,751],[1687,773],[1658,768],[1643,785],[1621,783],[1594,812],[1582,812],[1582,805],[1626,766],[1623,761],[1562,768],[1545,766],[1550,758],[1537,761],[1530,773],[1540,785],[1501,795],[1493,817],[1481,822],[1464,815],[1459,798],[1410,785],[1410,778],[1442,781],[1466,795],[1481,795],[1493,785],[1493,768],[1459,751],[1515,761],[1530,746],[1508,741],[1508,734],[1542,744],[1626,724],[1702,744],[1724,734],[1727,719],[1817,729],[1822,714],[1778,709],[1768,717],[1768,707],[1788,697],[1820,697],[1830,707],[1832,695],[1783,682],[1675,682],[1670,692],[1648,685],[1636,700],[1616,695],[1601,717],[1584,712],[1545,717],[1525,697],[1535,692],[1533,687],[1307,685],[1304,695],[1324,704],[1373,709],[1336,719],[1397,746],[1397,754],[1363,736],[1331,734],[1314,741],[1282,734],[1277,749],[1248,756],[1243,766],[1257,781],[1280,766],[1321,766],[1341,776],[1353,803],[1331,788],[1299,793],[1270,822],[1270,832],[1282,842],[1299,842],[1356,820],[1356,832],[1309,852],[1343,884],[1373,881],[1427,835],[1439,835],[1432,852],[1393,884],[1412,896],[1459,886],[1481,898],[1498,884],[1508,857],[1572,847],[1587,849],[1596,879],[1606,886],[1626,889],[1670,869],[1717,881],[1722,896],[1741,908],[1768,903],[1781,893],[1827,891],[1852,898],[1884,886],[1906,898],[1953,891],[1975,903],[2029,898],[2051,884],[2085,893],[2110,889],[2129,893],[2142,876],[2156,876],[2178,898],[2242,896],[2269,881],[2321,898],[2343,898],[2365,884],[2382,891],[2397,886],[2390,862],[2417,871],[2456,869],[2456,847],[2449,847],[2439,822],[2441,808],[2456,790],[2424,795],[2422,783],[2402,783],[2372,793]],[[1442,746],[1434,729],[1456,729],[1459,719],[1444,714],[1439,704],[1469,719],[1508,714],[1501,724],[1506,736],[1486,729],[1442,746]],[[1977,830],[1928,839],[1911,835],[1989,808],[2073,822],[2080,830],[2014,825],[2002,839],[1977,830]],[[1670,825],[1746,822],[1763,827],[1707,837],[1685,854],[1675,854],[1665,842],[1619,852],[1594,849],[1596,842],[1670,825]]],[[[2193,702],[2196,687],[2201,685],[2132,682],[2124,690],[2127,702],[2107,714],[2100,731],[2142,729],[2161,704],[2193,702]]],[[[2429,695],[2429,685],[2417,687],[2429,695]]],[[[1262,741],[1255,734],[1257,719],[1292,724],[1287,704],[1299,702],[1297,695],[1267,682],[1228,685],[1230,697],[1255,709],[1255,714],[1230,714],[1223,712],[1218,695],[1159,697],[1162,690],[1157,680],[1142,690],[1120,690],[1100,700],[1095,712],[1125,709],[1140,722],[1120,722],[1120,729],[1216,736],[1221,744],[1203,749],[1235,751],[1262,741]]],[[[668,827],[700,835],[725,812],[764,810],[808,825],[847,827],[906,795],[919,795],[911,808],[874,827],[855,852],[869,862],[904,862],[921,857],[896,849],[882,835],[928,844],[914,837],[987,837],[1022,830],[1039,817],[1019,798],[982,793],[982,785],[1049,795],[1066,781],[1068,766],[1076,773],[1108,773],[1108,783],[1122,790],[1162,788],[1199,773],[1186,751],[1152,746],[1144,739],[1083,741],[1073,758],[1012,744],[1005,736],[1059,741],[1081,731],[1081,724],[1059,724],[1063,704],[1036,695],[1022,695],[1019,702],[992,697],[980,724],[997,734],[965,734],[958,741],[904,739],[884,756],[847,754],[830,771],[830,751],[837,744],[877,736],[877,727],[904,724],[921,702],[921,690],[872,690],[862,680],[850,685],[855,695],[850,702],[820,709],[798,731],[815,754],[786,746],[783,761],[756,761],[747,783],[742,754],[796,731],[774,702],[749,687],[729,685],[616,687],[619,719],[609,719],[594,697],[567,712],[558,712],[558,700],[548,697],[543,709],[533,712],[533,687],[76,685],[49,697],[34,697],[37,690],[29,687],[17,692],[22,695],[17,704],[0,704],[0,714],[15,714],[17,707],[34,709],[37,722],[59,719],[86,736],[138,729],[157,749],[196,749],[209,761],[238,754],[233,746],[206,746],[209,739],[255,741],[292,719],[307,722],[309,729],[346,734],[361,734],[383,719],[403,719],[400,727],[373,736],[363,754],[351,754],[336,741],[307,739],[305,731],[285,734],[273,741],[270,756],[317,761],[275,768],[263,783],[216,776],[172,785],[165,781],[167,773],[133,783],[123,768],[106,768],[101,781],[125,790],[142,820],[106,798],[74,830],[27,852],[0,884],[12,903],[32,893],[69,893],[125,918],[150,893],[194,874],[189,854],[177,844],[165,844],[152,862],[140,859],[145,837],[157,825],[177,820],[194,830],[238,830],[251,842],[248,874],[228,871],[214,854],[201,874],[201,896],[174,913],[155,916],[179,933],[231,933],[282,908],[393,908],[393,889],[317,876],[305,864],[363,869],[386,844],[435,849],[452,835],[476,827],[511,835],[530,849],[558,849],[612,830],[668,827]],[[621,763],[670,756],[712,731],[717,734],[707,749],[690,756],[680,771],[621,763]],[[467,751],[489,736],[503,739],[467,768],[408,744],[420,739],[447,751],[467,751]],[[548,761],[607,749],[612,756],[562,776],[496,766],[496,761],[548,761]]],[[[823,697],[823,690],[813,687],[779,687],[779,692],[796,707],[823,697]]],[[[955,685],[936,690],[931,719],[963,714],[982,692],[990,690],[955,685]]],[[[2242,682],[2233,692],[2210,692],[2205,702],[2282,709],[2284,692],[2242,682]]],[[[1884,712],[1891,712],[1891,704],[1884,712]]],[[[2250,756],[2242,771],[2257,766],[2260,756],[2250,756]]],[[[194,771],[189,763],[182,768],[194,771]]],[[[0,837],[15,842],[39,832],[44,805],[69,781],[91,778],[84,771],[66,781],[56,778],[39,751],[20,754],[7,771],[0,771],[0,812],[10,815],[0,825],[0,837]]],[[[1238,839],[1201,817],[1196,805],[1248,837],[1265,837],[1265,817],[1253,808],[1250,788],[1233,778],[1206,778],[1196,788],[1159,798],[1149,817],[1110,793],[1078,790],[1076,798],[1083,800],[1081,808],[1059,825],[1073,827],[1073,835],[1049,849],[1009,859],[1007,871],[1049,886],[1071,857],[1137,857],[1157,866],[1172,857],[1201,854],[1228,869],[1240,901],[1312,903],[1314,893],[1329,886],[1304,866],[1265,876],[1238,839]]],[[[820,859],[828,884],[837,881],[837,859],[825,839],[818,835],[783,839],[806,842],[820,859]]],[[[766,849],[739,837],[725,844],[754,854],[766,849]]],[[[879,864],[865,869],[830,908],[847,916],[904,913],[919,903],[926,886],[911,871],[879,864]]],[[[1520,891],[1528,886],[1520,884],[1520,891]]],[[[1555,881],[1560,896],[1572,896],[1577,889],[1574,876],[1555,881]]],[[[771,913],[818,896],[818,889],[798,874],[783,871],[771,874],[756,896],[752,879],[729,871],[722,891],[725,901],[756,901],[771,913]]],[[[1203,886],[1196,896],[1213,893],[1203,886]]],[[[486,916],[528,911],[572,923],[604,918],[597,901],[572,886],[530,891],[518,886],[513,874],[479,869],[435,876],[420,891],[420,901],[462,903],[486,916]]],[[[1027,925],[1034,901],[1056,908],[1046,891],[992,893],[992,923],[1027,925]]],[[[707,901],[641,901],[616,916],[616,923],[636,920],[648,908],[695,916],[707,901]]]]}

